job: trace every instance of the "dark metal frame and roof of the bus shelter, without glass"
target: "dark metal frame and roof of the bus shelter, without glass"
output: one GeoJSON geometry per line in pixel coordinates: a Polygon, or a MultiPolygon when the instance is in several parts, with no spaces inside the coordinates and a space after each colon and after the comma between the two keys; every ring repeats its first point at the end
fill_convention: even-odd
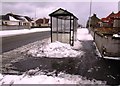
{"type": "MultiPolygon", "coordinates": [[[[71,46],[74,45],[74,36],[75,36],[75,31],[77,30],[77,20],[78,18],[76,16],[74,16],[72,13],[68,12],[67,10],[64,10],[62,8],[54,11],[53,13],[49,14],[50,16],[50,20],[51,20],[51,23],[50,23],[50,26],[51,26],[51,42],[53,42],[53,38],[52,38],[52,34],[54,33],[53,31],[53,18],[56,18],[56,33],[57,33],[57,40],[58,41],[58,33],[61,33],[58,31],[58,19],[61,19],[61,22],[62,20],[64,20],[64,25],[66,25],[65,21],[69,21],[69,32],[65,32],[65,33],[68,33],[69,34],[69,44],[71,46]]],[[[61,23],[62,24],[62,23],[61,23]]],[[[62,26],[62,25],[61,25],[62,26]]]]}

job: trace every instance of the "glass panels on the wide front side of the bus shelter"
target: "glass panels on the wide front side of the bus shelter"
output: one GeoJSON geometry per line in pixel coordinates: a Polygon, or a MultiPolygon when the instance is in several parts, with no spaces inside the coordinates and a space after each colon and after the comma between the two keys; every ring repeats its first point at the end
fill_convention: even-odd
{"type": "Polygon", "coordinates": [[[61,17],[52,17],[52,41],[69,43],[70,40],[70,20],[61,17]]]}

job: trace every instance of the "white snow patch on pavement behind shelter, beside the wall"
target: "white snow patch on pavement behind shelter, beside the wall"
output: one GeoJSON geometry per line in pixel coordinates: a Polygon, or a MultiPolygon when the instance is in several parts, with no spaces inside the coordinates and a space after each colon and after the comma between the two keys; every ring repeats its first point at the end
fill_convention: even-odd
{"type": "Polygon", "coordinates": [[[80,28],[77,30],[77,39],[78,40],[93,40],[93,37],[89,33],[87,28],[80,28]]]}

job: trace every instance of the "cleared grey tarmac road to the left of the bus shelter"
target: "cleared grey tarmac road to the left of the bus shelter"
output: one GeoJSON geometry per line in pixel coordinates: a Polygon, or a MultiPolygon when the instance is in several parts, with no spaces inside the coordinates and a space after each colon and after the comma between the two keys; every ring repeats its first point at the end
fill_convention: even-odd
{"type": "Polygon", "coordinates": [[[50,37],[50,31],[2,37],[2,53],[50,37]]]}

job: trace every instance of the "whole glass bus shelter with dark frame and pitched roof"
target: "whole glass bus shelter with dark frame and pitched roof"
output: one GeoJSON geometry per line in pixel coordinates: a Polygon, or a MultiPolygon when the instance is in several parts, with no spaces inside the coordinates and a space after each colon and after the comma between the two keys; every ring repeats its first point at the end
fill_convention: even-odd
{"type": "Polygon", "coordinates": [[[74,45],[78,27],[78,18],[72,13],[59,8],[49,14],[51,20],[51,42],[60,41],[74,45]]]}

